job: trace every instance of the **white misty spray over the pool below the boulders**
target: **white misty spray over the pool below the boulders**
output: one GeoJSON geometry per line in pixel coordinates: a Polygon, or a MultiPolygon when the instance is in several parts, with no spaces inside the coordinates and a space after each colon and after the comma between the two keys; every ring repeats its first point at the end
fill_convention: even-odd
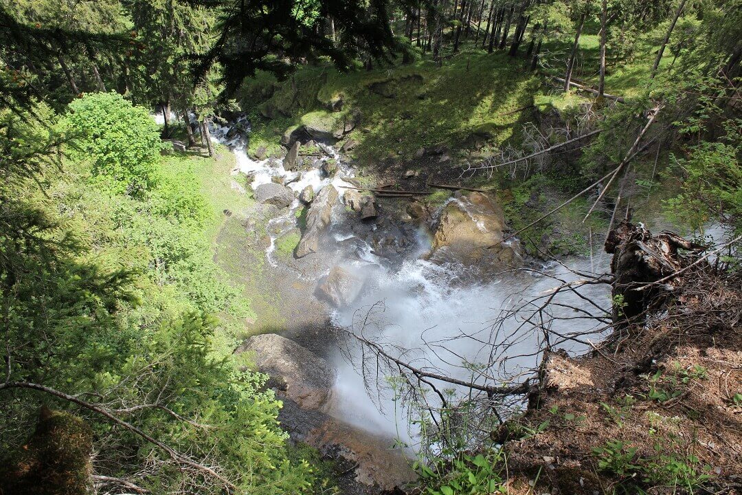
{"type": "MultiPolygon", "coordinates": [[[[608,256],[596,257],[593,263],[607,267],[608,256]]],[[[567,266],[569,269],[589,272],[591,262],[574,258],[569,260],[567,266]]],[[[353,269],[353,266],[348,265],[347,269],[353,269]]],[[[548,263],[536,269],[565,281],[580,279],[558,263],[548,263]]],[[[364,335],[375,338],[387,349],[398,346],[409,350],[404,356],[405,361],[415,367],[439,370],[445,376],[484,384],[484,379],[473,376],[462,365],[464,361],[487,363],[493,357],[490,355],[493,347],[486,343],[510,344],[502,355],[494,356],[496,367],[493,371],[498,372],[500,378],[530,373],[539,363],[540,354],[536,351],[541,344],[542,334],[529,324],[519,326],[533,308],[523,309],[502,325],[497,325],[496,320],[503,310],[513,309],[537,295],[548,295],[560,282],[535,272],[519,271],[491,275],[479,282],[462,283],[462,279],[467,279],[462,277],[465,270],[462,266],[441,266],[421,259],[405,260],[395,269],[377,266],[370,270],[368,267],[355,266],[355,274],[364,277],[364,290],[353,304],[333,313],[333,321],[339,326],[353,327],[355,332],[360,332],[360,322],[371,312],[364,335]]],[[[605,309],[610,309],[609,286],[582,286],[579,291],[605,309]]],[[[585,306],[585,301],[574,294],[560,294],[554,302],[585,306]]],[[[592,309],[599,313],[596,308],[592,309]]],[[[562,318],[577,316],[569,308],[552,309],[552,312],[562,318]]],[[[594,322],[587,323],[580,319],[562,321],[559,332],[591,330],[594,326],[594,322]]],[[[597,342],[602,337],[593,335],[591,338],[597,342]]],[[[568,342],[557,348],[582,352],[587,346],[568,342]]],[[[416,431],[414,428],[407,430],[405,411],[401,404],[393,401],[393,392],[388,389],[375,390],[374,380],[370,381],[370,390],[364,386],[364,379],[358,370],[360,353],[357,352],[355,359],[350,361],[344,359],[341,353],[336,353],[334,361],[339,374],[333,413],[359,427],[381,429],[401,436],[404,441],[412,441],[410,437],[416,431]],[[377,407],[381,407],[384,413],[378,413],[377,407]]],[[[455,388],[439,385],[441,388],[455,388]]],[[[434,397],[431,400],[436,401],[434,397]]]]}

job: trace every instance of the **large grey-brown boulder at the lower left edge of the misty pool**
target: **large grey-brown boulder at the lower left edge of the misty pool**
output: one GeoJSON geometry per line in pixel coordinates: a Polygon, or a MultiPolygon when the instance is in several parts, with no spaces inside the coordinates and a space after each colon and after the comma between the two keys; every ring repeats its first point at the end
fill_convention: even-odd
{"type": "Polygon", "coordinates": [[[335,369],[323,358],[275,333],[253,335],[236,353],[255,352],[255,365],[281,393],[304,409],[321,409],[335,383],[335,369]]]}

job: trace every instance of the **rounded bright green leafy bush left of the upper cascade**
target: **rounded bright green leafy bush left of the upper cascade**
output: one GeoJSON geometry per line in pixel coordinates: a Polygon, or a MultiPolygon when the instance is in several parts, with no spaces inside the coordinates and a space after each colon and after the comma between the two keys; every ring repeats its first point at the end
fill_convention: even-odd
{"type": "Polygon", "coordinates": [[[93,93],[68,109],[61,126],[74,137],[73,160],[90,163],[93,176],[114,193],[139,196],[151,189],[162,143],[145,108],[116,93],[93,93]]]}

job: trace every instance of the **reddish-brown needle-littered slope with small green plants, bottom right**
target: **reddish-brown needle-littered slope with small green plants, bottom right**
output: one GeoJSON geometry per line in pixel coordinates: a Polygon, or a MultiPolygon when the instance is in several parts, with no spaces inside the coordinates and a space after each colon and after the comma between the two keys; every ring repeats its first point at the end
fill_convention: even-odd
{"type": "Polygon", "coordinates": [[[692,281],[590,355],[550,355],[537,407],[498,432],[508,494],[739,493],[741,294],[738,277],[692,281]]]}

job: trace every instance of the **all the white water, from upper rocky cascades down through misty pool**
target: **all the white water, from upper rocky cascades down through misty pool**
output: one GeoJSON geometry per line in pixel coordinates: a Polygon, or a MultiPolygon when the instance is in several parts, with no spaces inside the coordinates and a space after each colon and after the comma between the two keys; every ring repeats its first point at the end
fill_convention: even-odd
{"type": "MultiPolygon", "coordinates": [[[[237,159],[234,174],[252,177],[252,188],[270,183],[276,176],[283,177],[286,186],[297,193],[306,186],[312,186],[316,193],[332,183],[342,197],[350,186],[344,177],[353,177],[352,168],[343,163],[342,157],[329,146],[321,145],[327,157],[334,158],[339,165],[338,174],[332,179],[323,176],[319,162],[309,171],[286,171],[280,161],[252,160],[240,140],[226,138],[228,131],[229,128],[224,127],[214,128],[212,132],[217,142],[229,145],[234,152],[237,159]]],[[[234,181],[234,187],[241,186],[234,181]]],[[[280,263],[275,256],[275,240],[295,228],[295,213],[299,207],[298,200],[295,200],[286,212],[270,220],[266,226],[271,238],[266,259],[272,266],[280,263]]],[[[335,245],[338,264],[363,283],[361,294],[352,304],[331,312],[335,325],[353,327],[358,331],[358,321],[371,311],[365,329],[367,335],[373,335],[382,344],[409,350],[405,358],[416,366],[435,367],[448,376],[464,380],[473,378],[471,371],[462,367],[464,361],[476,364],[492,358],[493,348],[487,347],[486,342],[510,344],[506,352],[496,356],[498,362],[494,370],[502,373],[503,377],[518,376],[520,372],[536,367],[539,361],[536,350],[542,335],[530,331],[528,325],[517,330],[522,324],[517,316],[501,327],[496,327],[493,322],[503,309],[512,309],[525,298],[548,294],[559,284],[542,274],[567,281],[577,280],[578,275],[555,262],[537,266],[533,272],[505,273],[493,275],[484,282],[470,281],[462,266],[440,265],[420,258],[430,248],[427,229],[418,229],[414,236],[416,246],[392,263],[376,255],[367,239],[357,238],[357,233],[350,228],[353,223],[358,223],[357,219],[348,217],[352,213],[341,208],[335,210],[333,224],[326,232],[326,242],[335,245]],[[356,242],[351,244],[345,242],[347,240],[356,242]]],[[[374,229],[372,226],[371,231],[374,229]]],[[[605,256],[592,261],[599,269],[607,267],[605,256]]],[[[589,271],[590,264],[590,260],[570,261],[572,269],[589,271]]],[[[579,291],[605,309],[610,308],[608,286],[583,286],[579,291]]],[[[557,301],[575,306],[585,304],[577,295],[559,296],[557,301]]],[[[594,308],[591,309],[594,312],[594,308]]],[[[562,332],[592,326],[586,326],[580,315],[572,315],[572,309],[562,308],[559,312],[567,318],[577,317],[566,321],[568,326],[561,328],[562,332]]],[[[600,335],[591,338],[599,341],[600,335]]],[[[571,342],[562,347],[584,350],[586,346],[571,342]]],[[[407,423],[407,411],[385,387],[384,377],[377,382],[376,377],[367,376],[373,379],[367,382],[370,387],[364,385],[359,369],[359,351],[354,351],[353,355],[354,358],[347,361],[339,350],[331,354],[333,364],[338,368],[338,379],[333,390],[335,401],[329,413],[372,433],[396,436],[413,444],[417,429],[407,423]]],[[[516,378],[516,381],[518,379],[522,378],[516,378]]],[[[482,379],[478,381],[482,383],[482,379]]],[[[446,385],[442,384],[441,388],[446,388],[446,385]]]]}

